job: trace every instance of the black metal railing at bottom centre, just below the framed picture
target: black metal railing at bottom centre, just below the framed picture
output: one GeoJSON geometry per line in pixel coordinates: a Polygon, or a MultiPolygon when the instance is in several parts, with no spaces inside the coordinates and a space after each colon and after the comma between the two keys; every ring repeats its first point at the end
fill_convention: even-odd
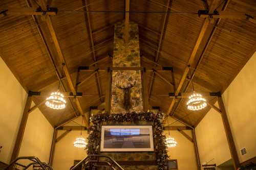
{"type": "Polygon", "coordinates": [[[116,170],[117,167],[119,170],[124,170],[113,158],[108,155],[88,155],[83,158],[80,162],[78,162],[74,167],[70,170],[75,170],[77,167],[84,165],[95,165],[95,166],[110,166],[113,170],[116,170]],[[104,160],[100,160],[100,158],[104,158],[104,160]]]}

